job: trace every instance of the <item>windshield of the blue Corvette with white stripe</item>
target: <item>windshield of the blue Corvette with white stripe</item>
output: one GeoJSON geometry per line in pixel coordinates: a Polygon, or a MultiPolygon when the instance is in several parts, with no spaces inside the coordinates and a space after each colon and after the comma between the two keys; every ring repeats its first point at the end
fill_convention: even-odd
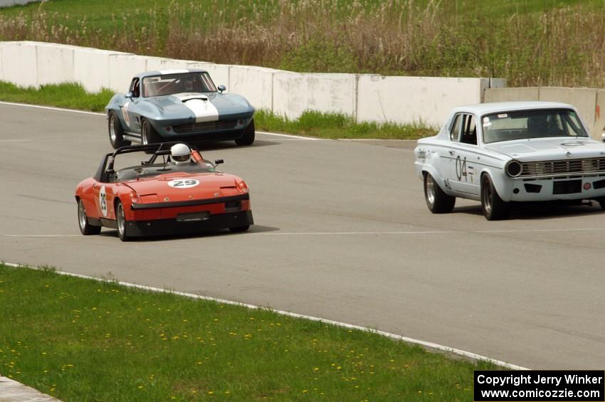
{"type": "Polygon", "coordinates": [[[143,97],[183,92],[216,92],[208,73],[178,73],[143,78],[143,97]]]}

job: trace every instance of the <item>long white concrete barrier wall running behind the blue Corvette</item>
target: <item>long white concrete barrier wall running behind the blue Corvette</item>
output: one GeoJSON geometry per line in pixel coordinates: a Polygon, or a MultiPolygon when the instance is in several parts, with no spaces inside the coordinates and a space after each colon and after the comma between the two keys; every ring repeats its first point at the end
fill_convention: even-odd
{"type": "MultiPolygon", "coordinates": [[[[203,68],[217,85],[258,109],[295,119],[305,110],[350,115],[357,121],[443,124],[451,108],[479,103],[502,79],[386,77],[290,73],[242,65],[172,60],[53,43],[0,42],[0,79],[20,86],[78,82],[85,90],[127,92],[142,71],[203,68]]],[[[495,92],[494,92],[495,93],[495,92]]]]}

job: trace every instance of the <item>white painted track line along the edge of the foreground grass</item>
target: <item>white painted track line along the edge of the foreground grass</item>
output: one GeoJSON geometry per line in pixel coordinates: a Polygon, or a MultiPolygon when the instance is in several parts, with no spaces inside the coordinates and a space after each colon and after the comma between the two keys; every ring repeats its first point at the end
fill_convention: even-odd
{"type": "MultiPolygon", "coordinates": [[[[9,265],[10,267],[14,267],[14,268],[29,268],[29,269],[34,269],[34,270],[38,269],[38,268],[28,267],[26,265],[14,264],[14,263],[4,263],[4,265],[9,265]]],[[[90,277],[90,276],[87,276],[87,275],[80,275],[80,274],[74,274],[74,273],[65,273],[63,271],[56,271],[56,273],[58,273],[59,275],[67,275],[67,276],[73,276],[73,277],[80,277],[80,278],[83,278],[83,279],[97,280],[99,282],[109,282],[109,280],[101,279],[101,278],[98,278],[98,277],[90,277]]],[[[323,318],[320,318],[320,317],[312,317],[310,315],[297,314],[297,313],[294,313],[294,312],[287,312],[287,311],[284,311],[284,310],[274,310],[274,309],[267,308],[267,307],[261,307],[261,306],[256,306],[256,305],[248,305],[247,303],[240,303],[240,302],[233,302],[231,300],[217,299],[215,297],[194,295],[192,293],[185,293],[185,292],[176,292],[174,290],[159,289],[158,287],[149,287],[149,286],[144,286],[144,285],[136,285],[134,283],[128,283],[128,282],[117,282],[117,283],[119,283],[122,286],[132,287],[132,288],[135,288],[135,289],[149,290],[149,291],[152,291],[152,292],[170,293],[172,295],[179,295],[179,296],[189,297],[191,299],[209,300],[209,301],[212,301],[212,302],[223,303],[225,305],[234,305],[234,306],[247,307],[247,308],[252,309],[252,310],[266,310],[266,311],[275,312],[277,314],[284,315],[284,316],[287,316],[287,317],[309,319],[310,321],[324,322],[325,324],[335,325],[337,327],[342,327],[342,328],[347,328],[347,329],[357,329],[359,331],[370,332],[372,334],[382,335],[383,337],[388,337],[388,338],[391,338],[391,339],[395,339],[397,341],[407,342],[407,343],[410,343],[410,344],[417,344],[417,345],[420,345],[422,347],[426,347],[426,348],[429,348],[429,349],[436,349],[437,351],[442,351],[442,352],[445,352],[445,353],[456,354],[458,356],[464,356],[464,357],[466,357],[468,359],[473,359],[475,361],[488,361],[490,363],[496,364],[496,365],[504,367],[506,369],[529,370],[529,369],[527,369],[525,367],[522,367],[522,366],[516,366],[515,364],[510,364],[510,363],[507,363],[505,361],[499,361],[499,360],[495,360],[495,359],[490,359],[489,357],[481,356],[479,354],[475,354],[475,353],[472,353],[470,351],[464,351],[464,350],[461,350],[461,349],[446,347],[446,346],[443,346],[443,345],[440,345],[440,344],[435,344],[433,342],[421,341],[420,339],[414,339],[414,338],[404,337],[402,335],[392,334],[391,332],[377,331],[376,329],[372,329],[372,328],[360,327],[359,325],[347,324],[346,322],[338,322],[338,321],[333,321],[331,319],[323,319],[323,318]]]]}

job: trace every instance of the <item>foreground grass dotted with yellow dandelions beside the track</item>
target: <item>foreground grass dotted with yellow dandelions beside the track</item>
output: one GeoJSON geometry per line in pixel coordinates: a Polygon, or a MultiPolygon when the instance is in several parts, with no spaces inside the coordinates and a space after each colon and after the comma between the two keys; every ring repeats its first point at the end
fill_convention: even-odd
{"type": "Polygon", "coordinates": [[[358,330],[0,263],[0,374],[68,401],[468,401],[473,370],[358,330]]]}

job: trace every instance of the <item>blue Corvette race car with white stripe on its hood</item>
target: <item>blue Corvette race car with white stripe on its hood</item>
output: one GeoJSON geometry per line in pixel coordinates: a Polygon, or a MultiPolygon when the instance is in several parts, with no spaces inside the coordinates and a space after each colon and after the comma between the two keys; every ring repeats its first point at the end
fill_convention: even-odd
{"type": "Polygon", "coordinates": [[[115,149],[131,142],[154,144],[226,141],[254,142],[254,108],[246,98],[226,94],[208,72],[198,69],[148,71],[132,78],[129,92],[105,107],[115,149]]]}

